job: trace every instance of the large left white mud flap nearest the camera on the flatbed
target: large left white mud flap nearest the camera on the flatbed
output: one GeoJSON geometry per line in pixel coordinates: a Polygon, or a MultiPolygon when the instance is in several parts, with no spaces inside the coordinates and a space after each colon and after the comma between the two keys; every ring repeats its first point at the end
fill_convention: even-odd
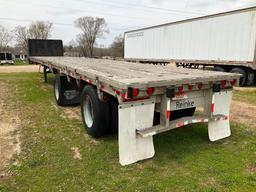
{"type": "Polygon", "coordinates": [[[129,165],[154,156],[153,136],[146,138],[136,130],[153,126],[154,101],[119,105],[119,161],[129,165]]]}

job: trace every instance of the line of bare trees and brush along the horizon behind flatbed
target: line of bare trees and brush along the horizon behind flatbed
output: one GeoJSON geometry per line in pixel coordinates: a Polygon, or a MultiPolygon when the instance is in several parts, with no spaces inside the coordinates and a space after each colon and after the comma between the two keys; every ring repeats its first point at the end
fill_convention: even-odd
{"type": "MultiPolygon", "coordinates": [[[[75,20],[74,26],[80,29],[80,34],[71,41],[70,45],[64,46],[64,51],[75,52],[83,57],[123,57],[122,35],[117,36],[108,48],[96,46],[97,40],[109,33],[104,18],[81,17],[75,20]]],[[[19,25],[12,31],[0,25],[0,52],[16,50],[16,52],[27,54],[28,39],[48,39],[51,37],[52,30],[53,24],[46,21],[35,21],[28,27],[19,25]],[[15,47],[11,46],[11,42],[15,42],[15,47]]]]}

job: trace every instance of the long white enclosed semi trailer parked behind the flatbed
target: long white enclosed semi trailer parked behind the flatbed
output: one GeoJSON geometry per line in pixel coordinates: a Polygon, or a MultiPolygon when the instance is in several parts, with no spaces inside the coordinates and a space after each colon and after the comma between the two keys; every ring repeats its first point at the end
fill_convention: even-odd
{"type": "Polygon", "coordinates": [[[125,59],[177,66],[214,66],[255,83],[256,7],[126,32],[125,59]]]}

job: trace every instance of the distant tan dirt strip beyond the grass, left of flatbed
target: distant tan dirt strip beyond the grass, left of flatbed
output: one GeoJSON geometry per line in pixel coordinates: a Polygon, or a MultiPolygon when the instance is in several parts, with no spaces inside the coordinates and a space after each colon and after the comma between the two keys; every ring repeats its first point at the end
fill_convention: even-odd
{"type": "Polygon", "coordinates": [[[38,72],[39,65],[0,66],[0,73],[38,72]]]}

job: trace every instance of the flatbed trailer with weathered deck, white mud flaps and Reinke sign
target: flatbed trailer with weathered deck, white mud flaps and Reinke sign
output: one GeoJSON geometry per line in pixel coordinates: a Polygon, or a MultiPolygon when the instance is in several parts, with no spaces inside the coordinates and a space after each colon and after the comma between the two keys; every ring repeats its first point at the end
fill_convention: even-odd
{"type": "Polygon", "coordinates": [[[121,165],[153,157],[154,135],[189,124],[207,122],[211,141],[231,135],[229,110],[240,75],[104,59],[29,59],[56,74],[59,105],[80,103],[89,135],[118,130],[121,165]],[[202,115],[194,115],[196,107],[202,115]]]}

